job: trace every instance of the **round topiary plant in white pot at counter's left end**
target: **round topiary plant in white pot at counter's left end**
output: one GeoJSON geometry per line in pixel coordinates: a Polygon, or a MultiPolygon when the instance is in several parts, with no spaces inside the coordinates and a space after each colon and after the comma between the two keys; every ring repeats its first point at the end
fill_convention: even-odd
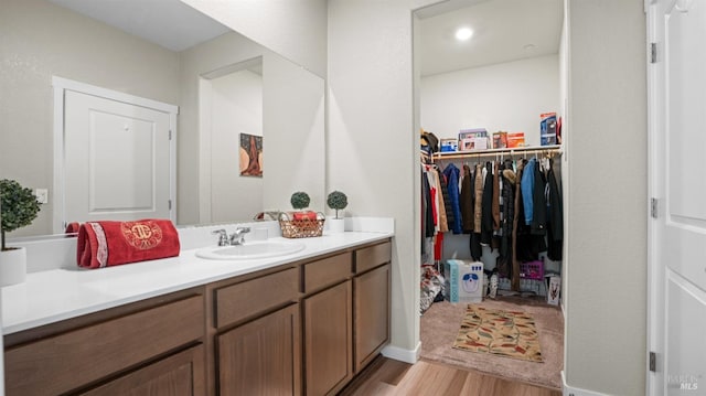
{"type": "Polygon", "coordinates": [[[8,247],[6,233],[30,225],[39,212],[32,190],[14,180],[0,180],[0,286],[21,283],[26,277],[26,249],[8,247]]]}

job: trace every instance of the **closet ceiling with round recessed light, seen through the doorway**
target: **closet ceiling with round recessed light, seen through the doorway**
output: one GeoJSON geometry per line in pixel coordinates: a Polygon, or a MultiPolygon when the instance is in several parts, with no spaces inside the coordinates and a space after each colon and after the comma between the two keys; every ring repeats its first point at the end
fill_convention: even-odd
{"type": "Polygon", "coordinates": [[[561,0],[452,0],[419,10],[421,75],[556,54],[563,15],[561,0]],[[473,30],[469,41],[456,40],[460,26],[473,30]]]}

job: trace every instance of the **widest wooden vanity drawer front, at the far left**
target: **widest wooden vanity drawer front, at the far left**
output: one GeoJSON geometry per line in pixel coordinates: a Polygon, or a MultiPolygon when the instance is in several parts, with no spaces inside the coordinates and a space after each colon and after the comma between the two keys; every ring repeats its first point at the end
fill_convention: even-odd
{"type": "Polygon", "coordinates": [[[8,395],[58,395],[204,335],[203,296],[6,350],[8,395]]]}

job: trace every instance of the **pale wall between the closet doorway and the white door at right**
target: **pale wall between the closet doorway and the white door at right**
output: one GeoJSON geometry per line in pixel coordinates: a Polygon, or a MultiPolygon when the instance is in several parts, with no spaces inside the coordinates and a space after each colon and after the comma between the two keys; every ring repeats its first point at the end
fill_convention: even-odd
{"type": "Polygon", "coordinates": [[[568,1],[566,381],[644,395],[648,126],[642,0],[568,1]]]}

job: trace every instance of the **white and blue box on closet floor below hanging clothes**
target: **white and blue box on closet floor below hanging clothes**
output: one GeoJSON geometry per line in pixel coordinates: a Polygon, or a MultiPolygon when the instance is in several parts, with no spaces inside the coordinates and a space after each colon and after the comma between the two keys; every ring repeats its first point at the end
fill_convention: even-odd
{"type": "Polygon", "coordinates": [[[483,301],[483,263],[471,260],[446,260],[446,299],[449,302],[483,301]]]}

